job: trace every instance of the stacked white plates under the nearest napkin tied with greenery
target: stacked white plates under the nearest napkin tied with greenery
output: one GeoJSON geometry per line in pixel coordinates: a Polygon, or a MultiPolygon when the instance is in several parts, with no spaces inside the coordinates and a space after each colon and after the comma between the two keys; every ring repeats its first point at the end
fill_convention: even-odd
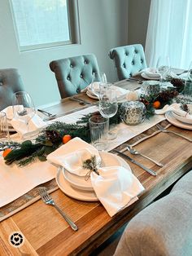
{"type": "MultiPolygon", "coordinates": [[[[122,158],[109,152],[100,152],[102,166],[124,166],[129,170],[129,166],[122,158]]],[[[59,167],[56,177],[59,188],[68,196],[81,201],[98,201],[94,192],[90,178],[78,176],[68,172],[63,167],[59,167]]]]}

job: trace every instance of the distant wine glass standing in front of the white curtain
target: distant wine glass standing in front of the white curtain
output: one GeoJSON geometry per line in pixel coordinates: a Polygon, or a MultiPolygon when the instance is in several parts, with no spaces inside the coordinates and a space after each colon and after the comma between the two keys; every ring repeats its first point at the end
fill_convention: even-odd
{"type": "Polygon", "coordinates": [[[164,77],[166,77],[170,71],[170,61],[168,55],[159,56],[156,68],[160,75],[159,82],[163,82],[164,77]]]}

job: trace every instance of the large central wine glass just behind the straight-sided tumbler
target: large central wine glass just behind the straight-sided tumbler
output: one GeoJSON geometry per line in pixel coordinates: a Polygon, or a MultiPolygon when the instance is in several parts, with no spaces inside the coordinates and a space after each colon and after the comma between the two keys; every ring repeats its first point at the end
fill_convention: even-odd
{"type": "Polygon", "coordinates": [[[99,112],[107,118],[107,140],[116,139],[116,134],[109,133],[109,118],[116,115],[117,109],[116,90],[102,90],[99,99],[99,112]]]}

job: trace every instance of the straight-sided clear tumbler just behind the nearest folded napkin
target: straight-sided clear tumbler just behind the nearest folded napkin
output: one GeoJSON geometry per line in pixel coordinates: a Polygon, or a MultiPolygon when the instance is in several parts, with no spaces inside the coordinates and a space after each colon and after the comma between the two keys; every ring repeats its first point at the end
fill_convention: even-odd
{"type": "Polygon", "coordinates": [[[100,115],[94,115],[89,118],[90,139],[92,145],[98,151],[107,149],[107,131],[108,121],[107,118],[100,115]]]}

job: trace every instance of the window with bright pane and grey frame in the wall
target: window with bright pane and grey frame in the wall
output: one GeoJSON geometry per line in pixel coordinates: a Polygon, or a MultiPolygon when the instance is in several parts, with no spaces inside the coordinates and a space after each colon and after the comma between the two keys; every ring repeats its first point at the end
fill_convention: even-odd
{"type": "Polygon", "coordinates": [[[76,1],[11,0],[20,51],[77,43],[76,1]]]}

